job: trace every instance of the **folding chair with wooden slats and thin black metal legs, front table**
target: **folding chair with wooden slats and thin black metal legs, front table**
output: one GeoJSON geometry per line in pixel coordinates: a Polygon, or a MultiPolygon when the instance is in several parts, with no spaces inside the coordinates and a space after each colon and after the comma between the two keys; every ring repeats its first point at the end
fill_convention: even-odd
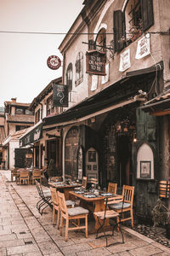
{"type": "MultiPolygon", "coordinates": [[[[109,210],[109,208],[108,208],[110,203],[112,204],[113,202],[117,202],[117,201],[120,201],[120,200],[119,199],[117,200],[115,197],[106,197],[105,198],[105,211],[94,212],[94,215],[98,218],[98,221],[99,221],[99,229],[96,232],[96,239],[105,236],[106,247],[109,247],[109,246],[117,243],[117,242],[115,242],[115,243],[111,243],[110,245],[108,245],[108,241],[107,241],[108,236],[114,236],[114,230],[116,229],[116,227],[118,227],[118,225],[120,223],[119,213],[114,211],[114,210],[109,210]],[[112,220],[115,220],[115,223],[111,223],[111,226],[112,226],[112,233],[111,234],[106,234],[105,233],[105,228],[106,229],[108,228],[108,226],[105,225],[105,221],[108,218],[112,219],[112,220]],[[99,231],[103,231],[104,235],[99,236],[99,231]]],[[[121,199],[121,201],[122,201],[122,199],[121,199]]],[[[121,234],[122,234],[122,243],[124,243],[124,236],[123,236],[123,233],[122,233],[121,226],[120,226],[119,229],[120,229],[121,234]]]]}

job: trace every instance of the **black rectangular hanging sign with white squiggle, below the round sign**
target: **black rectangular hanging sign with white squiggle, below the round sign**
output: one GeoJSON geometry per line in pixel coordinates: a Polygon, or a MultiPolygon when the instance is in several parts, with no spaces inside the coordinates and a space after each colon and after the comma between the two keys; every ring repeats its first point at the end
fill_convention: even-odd
{"type": "Polygon", "coordinates": [[[68,107],[68,85],[53,85],[53,106],[68,107]]]}

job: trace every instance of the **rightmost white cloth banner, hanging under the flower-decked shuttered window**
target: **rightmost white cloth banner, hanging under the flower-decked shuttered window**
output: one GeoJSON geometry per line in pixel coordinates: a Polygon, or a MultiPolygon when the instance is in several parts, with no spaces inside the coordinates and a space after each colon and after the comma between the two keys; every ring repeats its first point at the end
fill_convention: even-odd
{"type": "Polygon", "coordinates": [[[142,59],[146,55],[150,55],[150,34],[147,33],[144,38],[138,41],[138,46],[136,50],[136,59],[142,59]]]}

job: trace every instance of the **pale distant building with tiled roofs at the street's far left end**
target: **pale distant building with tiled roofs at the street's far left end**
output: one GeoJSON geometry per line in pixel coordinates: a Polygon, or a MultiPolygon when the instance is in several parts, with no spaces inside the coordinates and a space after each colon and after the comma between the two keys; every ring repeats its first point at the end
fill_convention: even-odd
{"type": "Polygon", "coordinates": [[[12,98],[11,102],[4,102],[6,137],[3,140],[3,149],[5,169],[25,166],[28,150],[26,148],[20,149],[19,137],[34,124],[34,115],[28,109],[29,107],[30,103],[16,102],[16,98],[12,98]]]}

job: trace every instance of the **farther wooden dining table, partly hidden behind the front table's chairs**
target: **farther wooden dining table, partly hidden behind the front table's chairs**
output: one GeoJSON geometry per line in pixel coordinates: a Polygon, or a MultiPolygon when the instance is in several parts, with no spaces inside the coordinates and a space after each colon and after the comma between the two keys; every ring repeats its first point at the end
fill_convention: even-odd
{"type": "Polygon", "coordinates": [[[48,182],[48,185],[51,187],[54,187],[56,190],[63,192],[65,194],[65,200],[70,199],[71,190],[82,187],[81,183],[76,183],[76,182],[65,183],[65,182],[50,181],[48,182]]]}

